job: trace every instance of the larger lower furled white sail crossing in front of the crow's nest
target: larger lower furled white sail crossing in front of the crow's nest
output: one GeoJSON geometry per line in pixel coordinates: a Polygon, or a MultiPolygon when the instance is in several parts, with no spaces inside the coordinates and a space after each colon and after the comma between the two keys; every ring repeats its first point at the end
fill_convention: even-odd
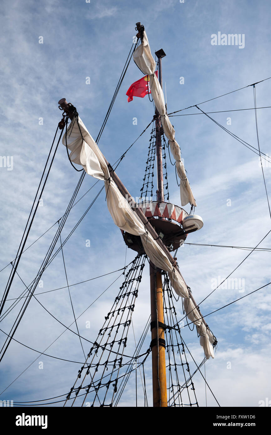
{"type": "Polygon", "coordinates": [[[132,209],[129,202],[122,196],[105,162],[105,158],[98,148],[85,125],[78,117],[74,118],[68,128],[67,135],[64,135],[62,143],[71,151],[69,156],[73,163],[81,164],[87,174],[92,177],[104,180],[108,210],[114,223],[122,230],[130,234],[140,236],[143,247],[150,260],[158,268],[168,272],[169,279],[176,294],[184,298],[184,308],[187,317],[196,325],[200,335],[200,345],[204,349],[207,358],[213,358],[214,337],[203,324],[202,318],[189,297],[189,292],[182,276],[170,263],[163,249],[157,241],[146,230],[146,227],[132,209]]]}

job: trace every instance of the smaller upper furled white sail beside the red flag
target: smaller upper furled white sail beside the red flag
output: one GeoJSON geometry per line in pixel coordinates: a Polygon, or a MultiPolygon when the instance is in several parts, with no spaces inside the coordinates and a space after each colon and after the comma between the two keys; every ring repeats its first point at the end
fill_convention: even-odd
{"type": "Polygon", "coordinates": [[[154,104],[159,114],[161,115],[161,122],[163,125],[164,132],[166,137],[169,140],[170,151],[174,159],[176,160],[176,171],[178,177],[180,178],[180,197],[182,206],[188,204],[190,202],[191,205],[196,206],[196,201],[193,196],[189,181],[186,177],[186,172],[183,166],[183,162],[181,161],[181,151],[179,144],[175,140],[175,130],[172,124],[169,121],[169,117],[166,114],[166,106],[164,100],[163,90],[160,86],[159,80],[154,74],[156,63],[152,57],[151,50],[149,47],[149,41],[144,30],[142,44],[136,48],[134,54],[134,61],[136,65],[140,68],[140,70],[144,74],[149,74],[150,80],[150,88],[152,92],[152,98],[154,100],[154,104]]]}

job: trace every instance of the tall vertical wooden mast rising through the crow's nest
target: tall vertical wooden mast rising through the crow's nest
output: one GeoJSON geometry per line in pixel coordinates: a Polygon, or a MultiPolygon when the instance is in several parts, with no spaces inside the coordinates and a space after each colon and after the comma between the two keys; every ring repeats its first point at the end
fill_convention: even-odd
{"type": "MultiPolygon", "coordinates": [[[[161,59],[163,50],[156,52],[159,63],[159,83],[162,87],[161,59]]],[[[163,160],[161,144],[161,117],[156,108],[156,162],[157,162],[157,201],[164,201],[163,160]]],[[[163,219],[163,218],[160,218],[163,219]]],[[[154,407],[167,407],[166,391],[166,342],[164,337],[164,310],[161,269],[149,262],[151,332],[152,332],[152,396],[154,407]]]]}

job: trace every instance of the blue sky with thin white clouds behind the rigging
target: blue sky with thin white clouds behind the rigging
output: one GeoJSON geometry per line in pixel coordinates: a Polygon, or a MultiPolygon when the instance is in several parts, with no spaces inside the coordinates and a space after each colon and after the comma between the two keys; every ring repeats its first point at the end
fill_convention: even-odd
{"type": "MultiPolygon", "coordinates": [[[[40,180],[49,147],[61,112],[58,100],[66,97],[92,137],[96,137],[107,112],[125,59],[141,21],[146,29],[152,54],[163,48],[163,83],[166,82],[168,112],[199,104],[218,95],[270,77],[270,5],[254,1],[166,2],[81,0],[34,2],[4,1],[1,10],[2,59],[1,83],[1,156],[13,156],[12,171],[0,167],[1,177],[1,267],[17,252],[30,207],[40,180]],[[214,33],[245,35],[245,47],[213,46],[214,33]],[[38,43],[43,37],[43,44],[38,43]],[[86,77],[91,83],[86,84],[86,77]],[[180,84],[184,77],[184,84],[180,84]],[[38,120],[42,117],[43,125],[38,120]]],[[[127,102],[126,90],[142,74],[131,62],[123,80],[114,110],[109,117],[99,147],[114,163],[152,120],[149,99],[127,102]],[[137,125],[133,125],[133,118],[137,125]]],[[[256,85],[257,107],[269,106],[271,80],[256,85]]],[[[254,107],[253,88],[212,100],[200,106],[204,111],[254,107]]],[[[259,109],[258,129],[261,151],[271,155],[269,140],[270,109],[259,109]]],[[[193,114],[193,107],[180,114],[193,114]]],[[[253,110],[211,115],[234,134],[257,147],[253,110]],[[227,117],[231,125],[227,125],[227,117]]],[[[171,117],[180,144],[188,179],[196,198],[196,213],[203,218],[203,229],[190,234],[187,242],[254,247],[270,229],[270,216],[258,156],[235,141],[205,115],[171,117]],[[231,206],[227,206],[227,200],[231,206]]],[[[127,153],[118,167],[118,175],[135,197],[139,196],[145,171],[149,132],[127,153]]],[[[180,204],[175,171],[169,173],[170,201],[180,204]]],[[[271,167],[264,168],[268,193],[271,191],[271,167]]],[[[79,175],[71,167],[66,150],[60,146],[30,233],[31,244],[64,213],[79,175]]],[[[86,176],[79,194],[94,184],[86,176]]],[[[100,190],[97,184],[72,210],[63,234],[67,235],[100,190]]],[[[80,195],[80,196],[81,196],[80,195]]],[[[189,207],[185,207],[187,211],[189,207]]],[[[26,283],[32,281],[56,227],[34,244],[22,257],[18,268],[26,283]]],[[[63,236],[64,237],[64,236],[63,236]]],[[[260,247],[270,246],[268,236],[260,247]]],[[[234,270],[247,251],[185,245],[178,252],[181,273],[190,285],[196,301],[210,293],[211,280],[221,279],[234,270]]],[[[101,194],[77,231],[64,247],[71,283],[83,281],[124,266],[125,245],[120,231],[108,213],[101,194]],[[91,240],[91,248],[85,241],[91,240]]],[[[243,296],[270,280],[270,252],[253,252],[231,278],[244,279],[240,289],[216,290],[201,305],[208,314],[243,296]]],[[[133,258],[127,252],[127,261],[133,258]]],[[[147,268],[146,268],[147,269],[147,268]]],[[[2,288],[9,268],[0,273],[2,288]]],[[[74,286],[71,295],[79,315],[118,275],[113,274],[91,284],[74,286]]],[[[120,278],[121,280],[121,278],[120,278]]],[[[44,273],[43,291],[65,285],[60,256],[44,273]]],[[[119,281],[118,281],[119,282],[119,281]]],[[[148,275],[145,271],[138,308],[134,313],[136,338],[149,316],[148,275]]],[[[94,337],[104,313],[119,286],[112,286],[78,322],[81,335],[94,337]],[[85,321],[92,329],[86,332],[85,321]]],[[[23,286],[14,280],[10,298],[17,297],[23,286]]],[[[39,300],[64,324],[73,320],[67,289],[39,296],[39,300]]],[[[264,288],[243,301],[207,318],[218,339],[215,358],[206,365],[207,381],[222,406],[258,406],[270,397],[268,361],[270,348],[270,289],[264,288]],[[231,369],[227,363],[231,362],[231,369]],[[269,396],[268,396],[269,395],[269,396]]],[[[181,306],[177,307],[181,313],[181,306]]],[[[1,322],[8,331],[13,315],[1,322]]],[[[69,322],[69,323],[68,323],[69,322]]],[[[197,362],[203,358],[196,332],[184,328],[184,338],[197,362]]],[[[44,350],[61,334],[63,327],[35,302],[27,308],[15,338],[37,350],[44,350]]],[[[91,339],[91,338],[89,338],[91,339]]],[[[1,340],[3,337],[1,336],[1,340]]],[[[51,355],[81,361],[76,336],[66,332],[50,348],[51,355]],[[76,359],[77,358],[77,359],[76,359]]],[[[131,344],[131,351],[133,351],[131,344]]],[[[88,350],[88,346],[86,346],[88,350]]],[[[1,391],[30,365],[38,354],[13,342],[1,364],[1,391]]],[[[78,365],[40,357],[0,398],[14,401],[37,400],[64,394],[75,380],[78,365]],[[38,369],[44,361],[44,369],[38,369]]],[[[149,371],[150,375],[150,371],[149,371]]],[[[202,378],[195,378],[200,405],[205,404],[202,378]]],[[[133,388],[122,405],[134,406],[133,388]]],[[[151,390],[150,384],[148,384],[151,390]]],[[[215,405],[207,392],[207,404],[215,405]]]]}

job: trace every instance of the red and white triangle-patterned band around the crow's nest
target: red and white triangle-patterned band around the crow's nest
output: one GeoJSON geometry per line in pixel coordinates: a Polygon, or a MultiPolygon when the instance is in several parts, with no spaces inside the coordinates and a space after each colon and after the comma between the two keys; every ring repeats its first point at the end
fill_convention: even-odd
{"type": "Polygon", "coordinates": [[[159,216],[161,218],[173,219],[173,221],[177,221],[180,224],[182,223],[183,219],[188,216],[183,208],[170,204],[169,202],[146,202],[140,204],[139,208],[145,214],[146,218],[159,216]]]}

